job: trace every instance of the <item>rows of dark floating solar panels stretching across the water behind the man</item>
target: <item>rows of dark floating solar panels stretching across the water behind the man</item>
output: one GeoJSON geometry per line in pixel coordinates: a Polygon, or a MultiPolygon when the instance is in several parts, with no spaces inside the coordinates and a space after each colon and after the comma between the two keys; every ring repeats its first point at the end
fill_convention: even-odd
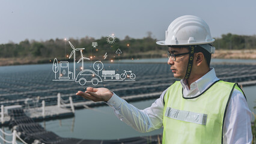
{"type": "MultiPolygon", "coordinates": [[[[228,82],[256,80],[255,65],[215,64],[211,66],[215,67],[220,79],[228,82]]],[[[73,66],[70,65],[71,71],[72,68],[73,66]]],[[[85,69],[87,68],[93,70],[92,64],[85,64],[85,69]]],[[[162,92],[178,80],[173,77],[169,68],[167,64],[104,64],[103,70],[115,70],[116,74],[124,73],[124,70],[132,70],[132,73],[136,74],[135,81],[104,81],[102,77],[103,82],[97,86],[91,83],[81,86],[72,81],[53,81],[55,73],[52,71],[52,64],[0,67],[0,105],[20,104],[25,107],[26,98],[39,99],[39,103],[44,100],[46,106],[56,105],[58,92],[61,93],[63,100],[68,100],[72,96],[74,103],[87,101],[75,94],[77,91],[85,91],[88,86],[106,87],[120,97],[162,92]]],[[[95,72],[97,74],[97,71],[95,72]]],[[[100,71],[99,76],[101,75],[100,71]]],[[[106,79],[111,80],[111,77],[106,79]]]]}

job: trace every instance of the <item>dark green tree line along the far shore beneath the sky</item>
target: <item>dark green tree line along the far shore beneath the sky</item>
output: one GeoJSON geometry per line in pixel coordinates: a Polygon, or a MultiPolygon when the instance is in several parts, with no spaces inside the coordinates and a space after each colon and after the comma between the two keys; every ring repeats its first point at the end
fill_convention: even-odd
{"type": "MultiPolygon", "coordinates": [[[[149,55],[161,55],[157,54],[159,50],[166,50],[165,46],[159,46],[156,44],[156,39],[152,38],[149,34],[144,38],[130,38],[126,36],[124,40],[120,40],[115,37],[115,41],[109,44],[106,41],[107,37],[99,39],[84,37],[80,39],[70,38],[69,40],[56,38],[46,41],[24,40],[20,43],[7,43],[0,44],[0,58],[23,58],[23,57],[41,57],[41,58],[66,58],[69,56],[72,48],[68,41],[70,41],[75,47],[84,47],[86,53],[94,53],[99,49],[108,49],[108,53],[115,53],[117,49],[125,52],[126,58],[138,58],[139,53],[151,52],[149,55]],[[92,42],[97,42],[97,47],[92,46],[92,42]]],[[[256,35],[236,35],[236,34],[223,34],[221,38],[215,38],[213,46],[216,49],[227,50],[243,50],[243,49],[256,49],[256,35]]],[[[104,55],[103,51],[99,51],[101,55],[104,55]]]]}

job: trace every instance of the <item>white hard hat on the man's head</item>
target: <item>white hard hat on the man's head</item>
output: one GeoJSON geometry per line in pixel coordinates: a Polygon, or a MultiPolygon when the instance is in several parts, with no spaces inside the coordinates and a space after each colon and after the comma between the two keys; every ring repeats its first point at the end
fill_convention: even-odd
{"type": "Polygon", "coordinates": [[[181,16],[175,19],[165,31],[165,41],[156,43],[163,46],[199,45],[210,53],[215,47],[210,45],[215,39],[210,34],[210,28],[203,19],[197,16],[181,16]]]}

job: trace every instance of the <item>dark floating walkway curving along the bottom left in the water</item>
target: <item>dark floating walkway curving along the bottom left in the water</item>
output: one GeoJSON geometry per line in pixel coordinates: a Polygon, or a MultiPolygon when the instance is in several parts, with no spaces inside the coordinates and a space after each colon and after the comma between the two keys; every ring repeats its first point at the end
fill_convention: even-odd
{"type": "Polygon", "coordinates": [[[49,144],[112,144],[112,143],[133,143],[133,144],[143,144],[151,143],[157,144],[162,143],[162,136],[146,136],[146,137],[132,137],[128,139],[118,139],[118,140],[83,140],[83,139],[73,139],[64,138],[56,135],[52,131],[46,131],[40,124],[33,121],[23,112],[23,109],[12,109],[10,110],[11,122],[10,127],[16,129],[19,137],[23,139],[26,143],[49,143],[49,144]]]}

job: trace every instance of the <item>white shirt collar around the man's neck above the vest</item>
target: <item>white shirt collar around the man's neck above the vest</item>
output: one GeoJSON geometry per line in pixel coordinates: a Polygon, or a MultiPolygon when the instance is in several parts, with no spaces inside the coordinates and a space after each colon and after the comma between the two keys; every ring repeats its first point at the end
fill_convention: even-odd
{"type": "MultiPolygon", "coordinates": [[[[201,94],[201,92],[209,88],[209,86],[212,85],[212,83],[215,82],[216,80],[218,80],[218,77],[216,77],[215,69],[210,68],[210,71],[204,74],[203,77],[200,77],[200,79],[191,83],[190,91],[194,91],[195,89],[198,89],[198,92],[201,94]]],[[[183,89],[188,88],[186,79],[180,80],[180,83],[183,89]]]]}

